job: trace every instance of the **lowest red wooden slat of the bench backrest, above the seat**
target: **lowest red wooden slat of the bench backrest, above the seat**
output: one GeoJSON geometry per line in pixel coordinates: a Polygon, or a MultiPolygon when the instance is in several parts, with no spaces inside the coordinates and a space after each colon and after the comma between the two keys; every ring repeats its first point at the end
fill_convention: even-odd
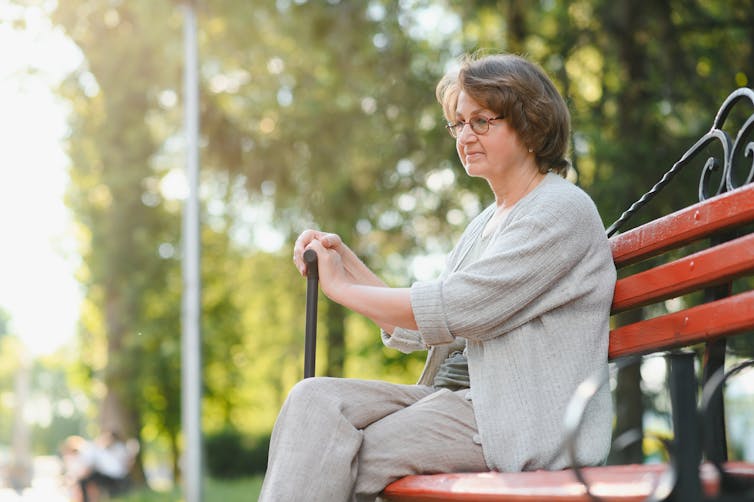
{"type": "Polygon", "coordinates": [[[610,359],[647,354],[754,329],[754,291],[610,331],[610,359]]]}

